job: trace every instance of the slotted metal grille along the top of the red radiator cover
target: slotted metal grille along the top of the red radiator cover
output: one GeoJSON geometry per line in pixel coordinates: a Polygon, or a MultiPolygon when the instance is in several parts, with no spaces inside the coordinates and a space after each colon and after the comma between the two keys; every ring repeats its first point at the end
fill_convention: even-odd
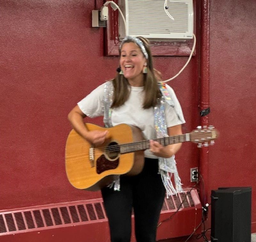
{"type": "MultiPolygon", "coordinates": [[[[180,209],[195,206],[191,193],[185,191],[165,199],[162,212],[176,211],[181,203],[180,209]]],[[[0,211],[0,236],[103,221],[107,221],[107,215],[102,199],[29,207],[19,211],[0,211]]]]}

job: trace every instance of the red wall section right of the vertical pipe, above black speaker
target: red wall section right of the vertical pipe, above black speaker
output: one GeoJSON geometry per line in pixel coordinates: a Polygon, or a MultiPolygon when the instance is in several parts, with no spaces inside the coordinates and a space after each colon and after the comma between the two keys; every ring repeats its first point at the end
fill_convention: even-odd
{"type": "Polygon", "coordinates": [[[252,186],[256,232],[256,3],[211,1],[210,122],[220,139],[209,153],[209,191],[252,186]]]}

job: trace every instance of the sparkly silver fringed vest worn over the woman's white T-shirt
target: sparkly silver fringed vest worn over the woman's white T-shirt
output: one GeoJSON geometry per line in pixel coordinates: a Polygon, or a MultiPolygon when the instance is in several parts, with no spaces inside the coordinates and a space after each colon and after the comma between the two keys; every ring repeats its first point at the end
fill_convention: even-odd
{"type": "MultiPolygon", "coordinates": [[[[158,104],[154,107],[154,122],[155,122],[157,138],[168,136],[167,125],[165,121],[165,113],[164,113],[165,102],[171,105],[172,107],[174,107],[174,102],[172,100],[171,94],[166,89],[165,83],[159,82],[159,88],[163,96],[159,98],[158,104]]],[[[112,82],[111,81],[106,82],[104,86],[104,119],[103,119],[106,127],[112,127],[111,105],[113,102],[112,100],[113,92],[114,92],[114,88],[113,88],[112,82]]],[[[174,110],[175,110],[175,107],[174,107],[174,110]]],[[[176,110],[175,112],[177,113],[176,110]]],[[[161,174],[162,181],[166,189],[167,198],[171,195],[176,195],[177,192],[183,192],[174,155],[171,158],[159,157],[158,171],[161,174]],[[174,175],[175,188],[171,181],[172,175],[174,175]]],[[[111,183],[109,187],[111,188],[114,186],[115,191],[120,191],[120,176],[116,176],[115,178],[116,178],[115,181],[111,183]]]]}

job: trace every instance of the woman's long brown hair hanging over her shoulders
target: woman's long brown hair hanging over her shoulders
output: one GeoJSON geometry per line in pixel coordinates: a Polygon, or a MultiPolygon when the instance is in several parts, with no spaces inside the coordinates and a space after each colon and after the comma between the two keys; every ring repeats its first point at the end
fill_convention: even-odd
{"type": "MultiPolygon", "coordinates": [[[[154,107],[157,104],[157,98],[161,96],[161,92],[157,84],[155,69],[153,68],[152,54],[149,48],[149,42],[147,39],[143,37],[137,37],[137,38],[143,42],[145,49],[148,53],[148,59],[147,59],[148,73],[143,74],[144,91],[145,91],[143,108],[147,109],[150,107],[154,107]]],[[[133,41],[128,39],[124,43],[129,43],[129,42],[133,42],[133,41]]],[[[121,50],[119,50],[119,55],[120,55],[120,51],[121,50]]],[[[114,97],[113,97],[113,103],[111,108],[114,108],[114,107],[119,107],[123,105],[127,101],[130,95],[130,88],[129,88],[128,80],[124,77],[124,75],[120,75],[119,73],[117,73],[116,78],[113,79],[112,81],[114,86],[114,97]]]]}

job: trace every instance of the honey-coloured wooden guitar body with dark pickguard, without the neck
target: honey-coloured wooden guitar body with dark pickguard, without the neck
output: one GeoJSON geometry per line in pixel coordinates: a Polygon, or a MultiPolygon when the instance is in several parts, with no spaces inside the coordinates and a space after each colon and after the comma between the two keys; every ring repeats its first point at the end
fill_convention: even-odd
{"type": "Polygon", "coordinates": [[[94,147],[74,129],[66,143],[66,173],[69,182],[77,189],[98,191],[114,180],[114,175],[137,175],[144,166],[144,151],[120,154],[118,144],[143,140],[139,128],[119,124],[111,128],[86,123],[89,131],[108,130],[104,144],[94,147]],[[93,156],[93,159],[92,159],[93,156]]]}

